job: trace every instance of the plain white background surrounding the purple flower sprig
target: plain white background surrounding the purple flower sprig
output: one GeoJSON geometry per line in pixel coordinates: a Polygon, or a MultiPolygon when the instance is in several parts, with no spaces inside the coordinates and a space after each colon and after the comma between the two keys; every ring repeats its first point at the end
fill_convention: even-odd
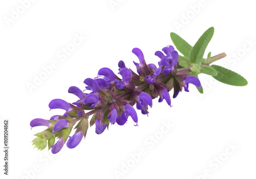
{"type": "MultiPolygon", "coordinates": [[[[116,172],[122,172],[120,178],[196,178],[205,170],[210,178],[255,178],[256,12],[251,1],[113,2],[118,6],[112,8],[108,0],[38,0],[22,12],[20,1],[1,1],[0,119],[10,120],[10,175],[6,178],[118,178],[116,172]],[[191,7],[199,5],[193,12],[191,7]],[[17,12],[17,8],[20,14],[13,19],[12,9],[17,12]],[[7,23],[7,19],[12,20],[7,23]],[[129,119],[126,125],[115,124],[97,135],[93,126],[76,148],[65,145],[49,158],[47,149],[33,149],[33,135],[45,128],[31,130],[30,121],[62,114],[62,110],[49,111],[48,104],[55,98],[76,101],[68,93],[70,86],[84,89],[83,80],[95,77],[103,67],[117,73],[119,60],[134,69],[132,61],[138,59],[131,51],[135,47],[147,62],[157,63],[155,51],[173,45],[170,32],[194,45],[212,26],[215,34],[206,53],[225,52],[225,60],[215,64],[244,76],[247,86],[230,86],[201,75],[203,95],[191,85],[189,93],[172,99],[172,108],[155,99],[148,117],[138,111],[139,127],[129,119]],[[61,60],[57,54],[72,44],[76,34],[87,39],[61,60]],[[254,44],[250,47],[246,40],[254,44]],[[241,57],[238,60],[232,54],[241,57]],[[35,76],[54,60],[58,67],[30,92],[28,83],[33,84],[35,76]],[[163,122],[174,126],[161,137],[163,122]],[[145,143],[155,135],[159,140],[154,146],[145,143]],[[239,148],[225,159],[228,143],[239,148]],[[145,155],[134,164],[131,154],[140,148],[145,155]],[[211,166],[220,156],[225,159],[222,165],[211,166]],[[127,162],[134,165],[124,172],[121,167],[127,162]]],[[[0,163],[4,163],[2,154],[0,163]]],[[[0,173],[2,178],[2,167],[0,173]]]]}

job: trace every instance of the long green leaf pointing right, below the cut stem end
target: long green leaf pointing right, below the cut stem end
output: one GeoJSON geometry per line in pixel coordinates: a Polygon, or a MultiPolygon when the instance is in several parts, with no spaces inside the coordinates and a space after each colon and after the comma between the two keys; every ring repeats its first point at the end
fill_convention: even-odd
{"type": "Polygon", "coordinates": [[[214,78],[222,83],[234,86],[245,86],[248,84],[246,79],[241,75],[237,74],[236,72],[214,64],[211,65],[211,67],[218,72],[218,75],[214,76],[214,78]]]}

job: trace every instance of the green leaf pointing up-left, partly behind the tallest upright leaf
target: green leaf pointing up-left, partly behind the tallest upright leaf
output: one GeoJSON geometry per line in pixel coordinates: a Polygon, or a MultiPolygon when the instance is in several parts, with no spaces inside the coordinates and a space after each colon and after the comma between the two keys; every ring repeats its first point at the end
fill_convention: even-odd
{"type": "Polygon", "coordinates": [[[188,57],[192,46],[190,46],[190,44],[188,44],[183,38],[174,32],[170,33],[170,38],[172,38],[178,51],[180,51],[180,53],[182,53],[184,56],[188,57]]]}

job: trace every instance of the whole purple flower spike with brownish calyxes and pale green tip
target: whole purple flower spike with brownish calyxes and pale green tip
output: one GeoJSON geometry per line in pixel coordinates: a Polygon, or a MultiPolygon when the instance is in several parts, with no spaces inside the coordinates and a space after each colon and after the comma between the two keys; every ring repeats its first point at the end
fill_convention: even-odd
{"type": "Polygon", "coordinates": [[[164,47],[162,51],[164,53],[155,53],[160,58],[158,65],[155,65],[146,64],[142,51],[134,48],[132,52],[139,59],[139,63],[134,62],[137,73],[126,68],[123,61],[118,63],[118,75],[109,68],[102,68],[96,78],[84,80],[89,93],[71,86],[68,92],[78,97],[76,102],[71,104],[54,99],[49,103],[50,109],[64,109],[63,115],[53,116],[50,120],[37,118],[30,122],[31,127],[48,127],[36,133],[33,145],[42,150],[48,143],[52,153],[59,152],[66,142],[69,148],[74,148],[86,137],[90,116],[90,126],[95,124],[97,134],[109,128],[110,124],[124,125],[129,116],[137,126],[135,104],[143,115],[148,115],[148,106],[153,105],[152,99],[159,97],[159,102],[165,100],[171,106],[169,91],[172,89],[176,98],[182,88],[188,92],[189,83],[201,87],[197,77],[189,76],[189,68],[178,64],[179,55],[172,46],[164,47]],[[73,127],[76,131],[70,137],[73,127]],[[55,138],[58,139],[56,143],[55,138]]]}

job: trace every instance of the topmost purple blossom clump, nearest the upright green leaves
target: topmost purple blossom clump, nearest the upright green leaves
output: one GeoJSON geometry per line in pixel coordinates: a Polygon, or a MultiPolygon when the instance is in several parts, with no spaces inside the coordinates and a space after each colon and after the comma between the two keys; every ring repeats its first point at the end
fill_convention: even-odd
{"type": "Polygon", "coordinates": [[[161,59],[158,64],[159,66],[164,66],[163,74],[167,75],[168,73],[170,73],[170,71],[174,69],[178,61],[179,54],[177,51],[174,50],[173,46],[164,47],[162,51],[166,54],[166,56],[160,51],[157,51],[155,55],[161,59]]]}

